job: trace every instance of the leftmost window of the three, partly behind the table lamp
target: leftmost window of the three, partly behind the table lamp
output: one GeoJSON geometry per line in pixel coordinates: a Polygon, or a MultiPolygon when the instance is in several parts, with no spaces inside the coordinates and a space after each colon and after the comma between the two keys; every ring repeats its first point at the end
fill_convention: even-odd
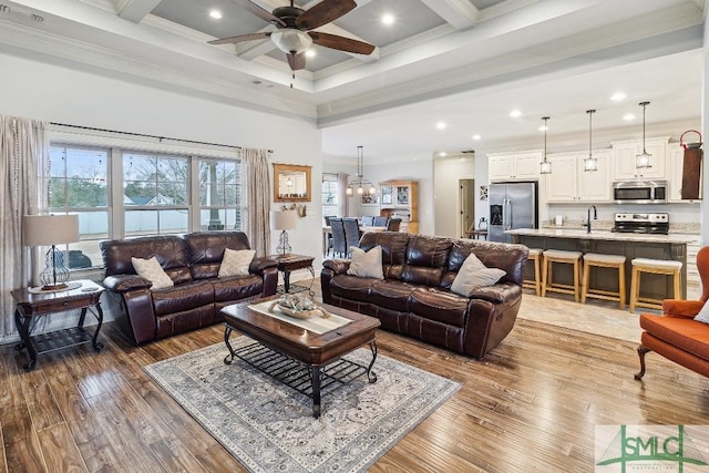
{"type": "Polygon", "coordinates": [[[99,241],[109,237],[109,154],[101,148],[50,147],[50,212],[79,215],[80,241],[63,249],[69,269],[102,264],[99,241]]]}

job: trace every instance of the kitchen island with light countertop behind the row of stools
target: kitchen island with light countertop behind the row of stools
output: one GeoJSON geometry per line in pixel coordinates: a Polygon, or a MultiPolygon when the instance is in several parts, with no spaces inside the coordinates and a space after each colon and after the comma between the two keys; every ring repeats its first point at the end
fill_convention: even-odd
{"type": "MultiPolygon", "coordinates": [[[[634,258],[682,261],[681,288],[684,298],[687,297],[687,244],[699,241],[699,235],[624,234],[608,230],[587,233],[586,229],[576,228],[518,228],[505,233],[512,235],[512,243],[518,243],[530,248],[623,255],[626,257],[626,290],[628,292],[633,270],[630,261],[634,258]]],[[[595,288],[617,291],[617,273],[614,269],[594,268],[590,284],[595,288]]],[[[559,267],[557,269],[555,267],[554,280],[573,284],[571,268],[559,267]]],[[[656,299],[671,298],[674,294],[671,279],[660,275],[643,275],[640,290],[644,296],[656,299]]],[[[626,296],[629,297],[629,294],[626,296]]]]}

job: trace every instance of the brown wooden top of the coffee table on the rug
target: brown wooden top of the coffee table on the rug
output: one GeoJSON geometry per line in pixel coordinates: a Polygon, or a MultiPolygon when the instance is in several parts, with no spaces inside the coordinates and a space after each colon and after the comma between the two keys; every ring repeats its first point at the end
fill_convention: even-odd
{"type": "MultiPolygon", "coordinates": [[[[278,299],[271,296],[253,301],[278,299]]],[[[352,320],[338,329],[318,335],[274,317],[251,310],[249,305],[222,309],[226,323],[263,345],[308,364],[325,364],[374,341],[381,322],[374,317],[322,304],[330,313],[352,320]]]]}

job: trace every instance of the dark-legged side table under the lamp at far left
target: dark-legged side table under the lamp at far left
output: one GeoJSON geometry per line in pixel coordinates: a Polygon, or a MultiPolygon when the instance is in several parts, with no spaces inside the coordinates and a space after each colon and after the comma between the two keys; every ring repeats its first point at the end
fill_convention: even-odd
{"type": "Polygon", "coordinates": [[[66,347],[75,347],[91,342],[94,350],[100,351],[103,348],[99,338],[99,331],[103,323],[103,310],[101,309],[101,295],[103,287],[97,284],[83,279],[71,281],[78,287],[55,291],[55,292],[35,292],[30,288],[20,288],[12,291],[12,298],[17,304],[14,310],[14,323],[20,332],[21,342],[16,347],[17,350],[27,349],[29,361],[24,364],[24,370],[30,371],[37,364],[37,356],[49,351],[59,350],[66,347]],[[51,333],[42,333],[32,337],[31,326],[32,319],[47,316],[54,312],[63,312],[72,309],[81,309],[79,323],[75,328],[56,330],[51,333]],[[95,309],[95,310],[94,310],[95,309]],[[84,329],[84,320],[86,311],[91,311],[99,320],[99,325],[93,333],[84,329]]]}

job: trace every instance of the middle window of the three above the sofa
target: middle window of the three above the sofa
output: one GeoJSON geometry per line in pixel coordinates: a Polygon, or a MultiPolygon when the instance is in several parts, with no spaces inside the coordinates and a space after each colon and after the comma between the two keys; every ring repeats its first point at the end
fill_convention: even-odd
{"type": "Polygon", "coordinates": [[[187,158],[123,154],[126,237],[189,230],[187,158]]]}

